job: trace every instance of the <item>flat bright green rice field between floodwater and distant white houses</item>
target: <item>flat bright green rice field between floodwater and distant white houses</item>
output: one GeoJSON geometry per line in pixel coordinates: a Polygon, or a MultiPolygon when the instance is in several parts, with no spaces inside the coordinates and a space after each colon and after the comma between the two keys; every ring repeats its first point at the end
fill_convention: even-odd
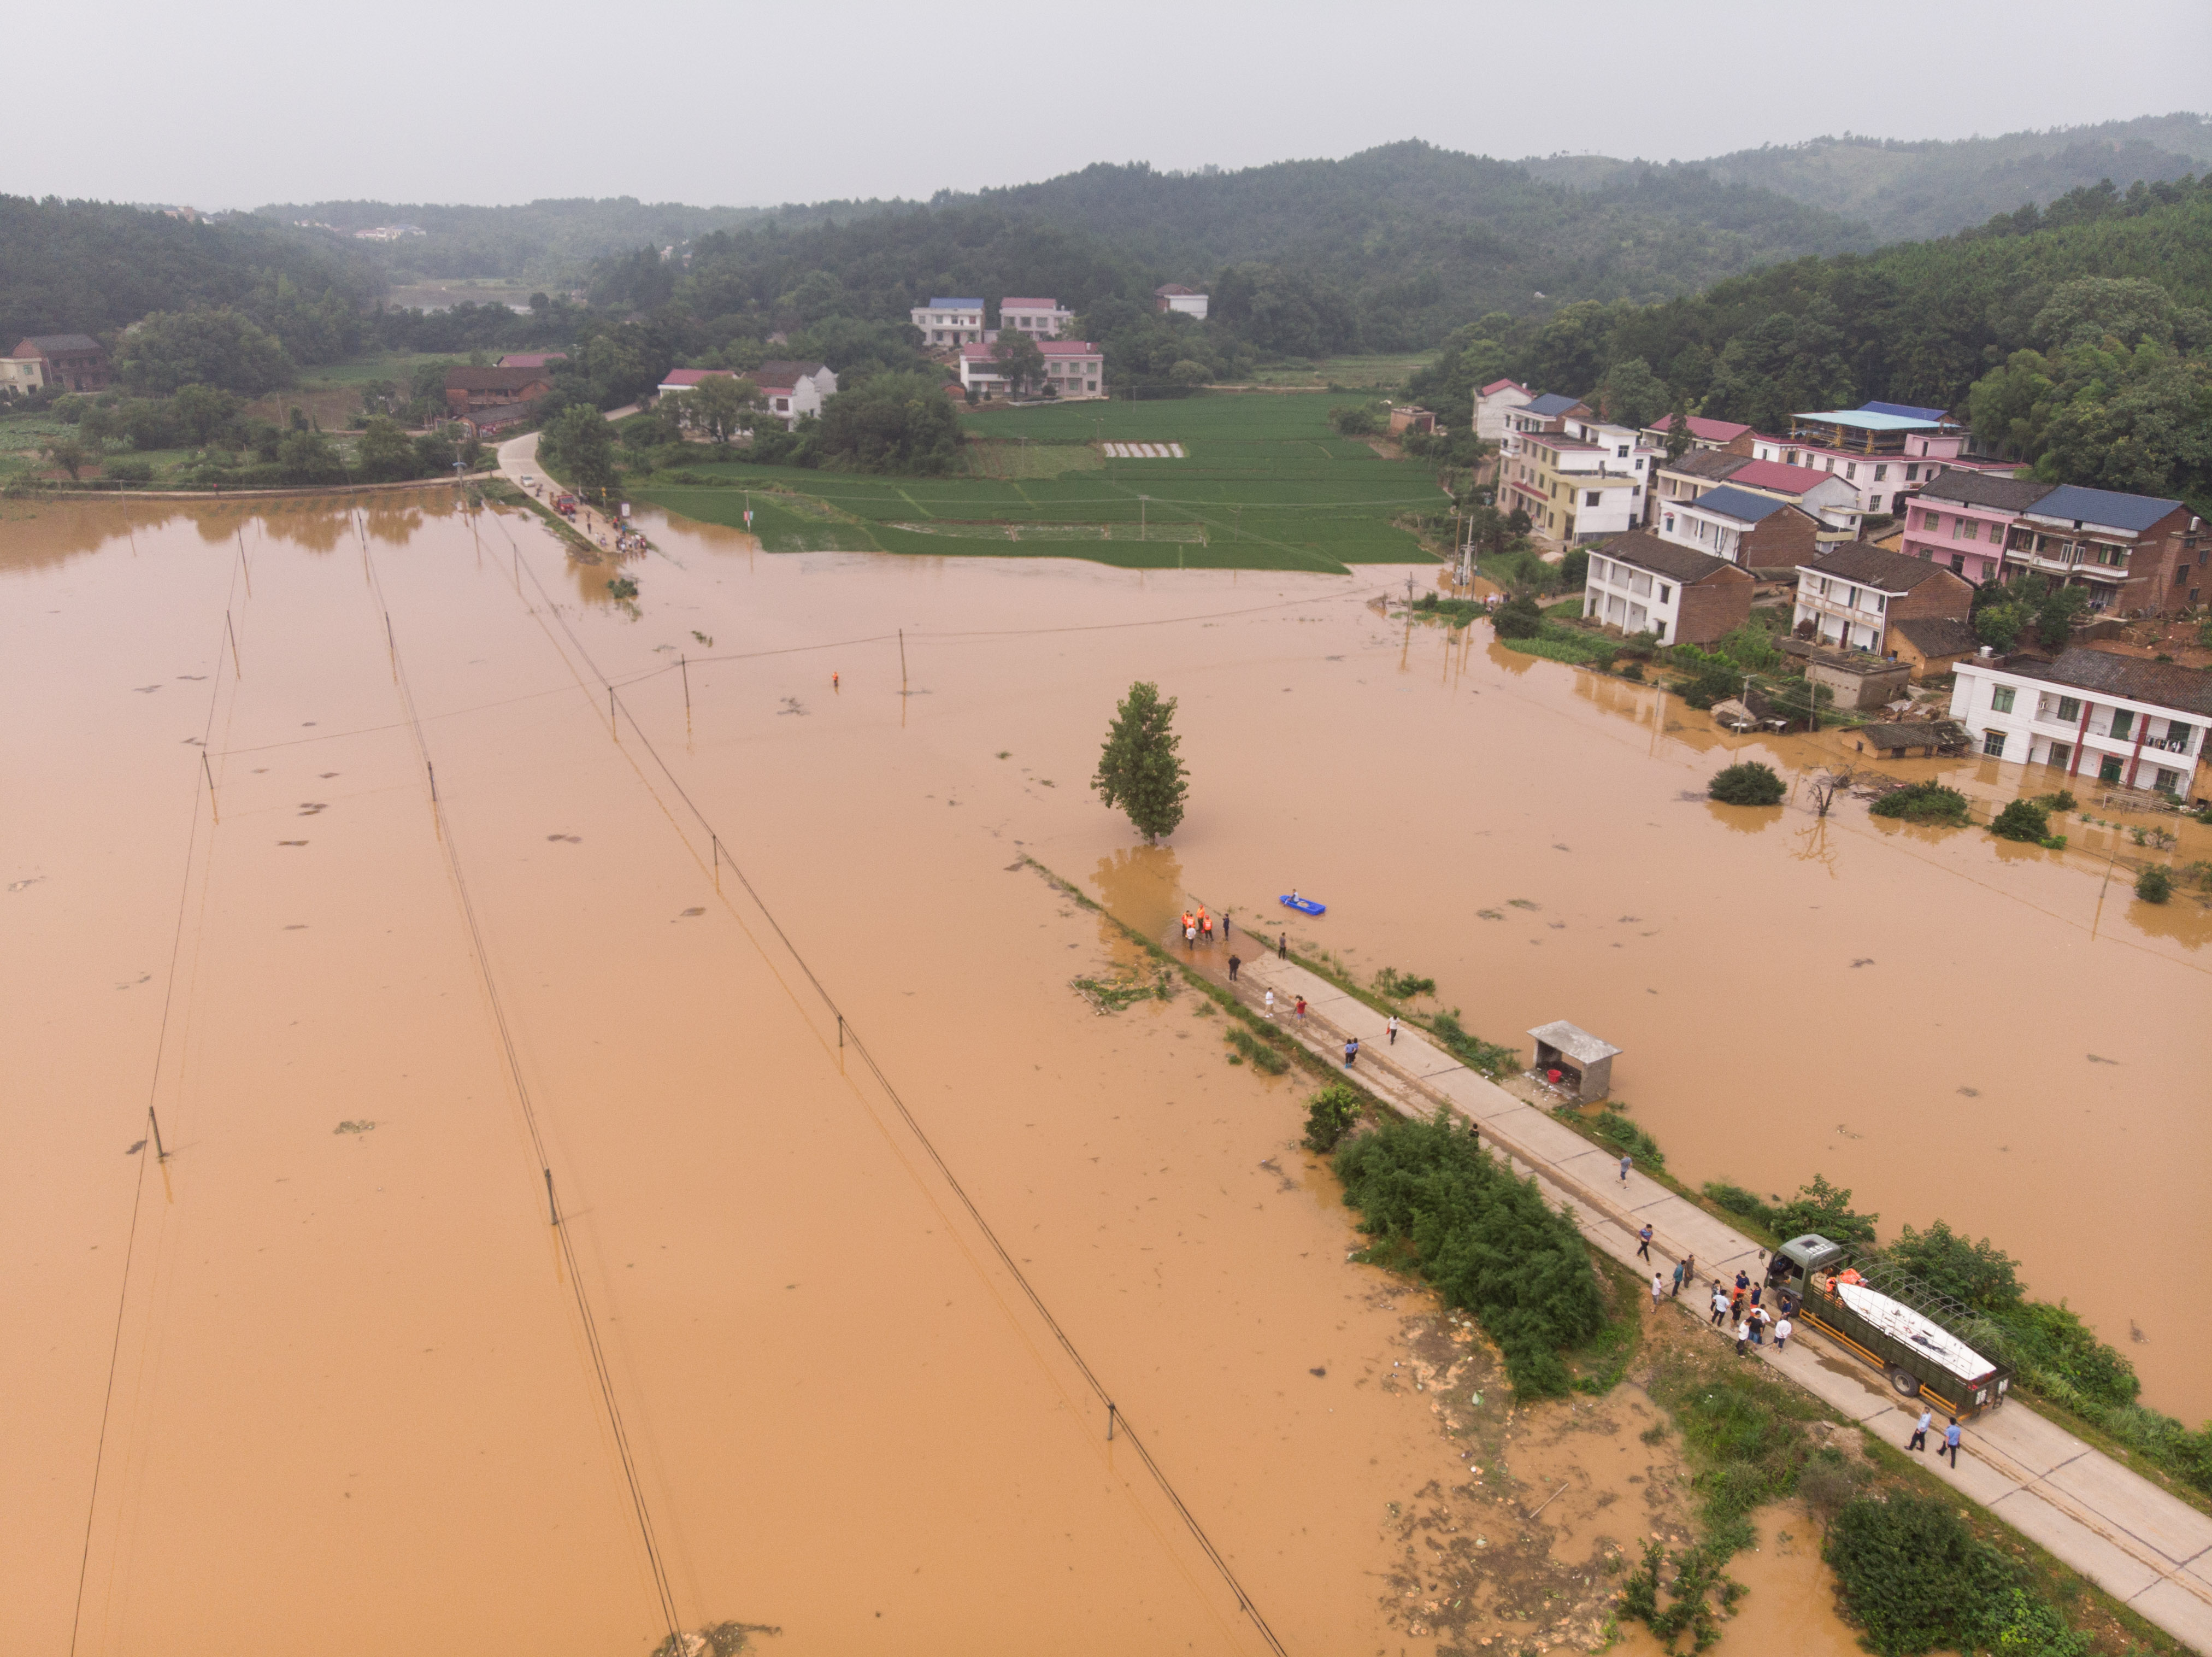
{"type": "Polygon", "coordinates": [[[1029,440],[1022,476],[686,467],[633,484],[633,500],[752,531],[768,551],[1091,557],[1130,569],[1312,569],[1422,562],[1396,520],[1449,507],[1433,469],[1338,438],[1345,396],[1197,396],[967,414],[982,442],[1029,440]],[[1181,460],[1121,460],[1104,442],[1177,442],[1181,460]],[[1040,447],[1066,447],[1053,469],[1040,447]]]}

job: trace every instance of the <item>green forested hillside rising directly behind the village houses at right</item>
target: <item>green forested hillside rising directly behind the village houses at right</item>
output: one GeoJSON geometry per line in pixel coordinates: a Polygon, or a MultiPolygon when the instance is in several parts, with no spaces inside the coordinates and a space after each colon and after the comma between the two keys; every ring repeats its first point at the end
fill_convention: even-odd
{"type": "MultiPolygon", "coordinates": [[[[2212,177],[2075,190],[1938,241],[1798,259],[1659,305],[1486,316],[1413,394],[1513,374],[1641,423],[1774,431],[1867,398],[1966,409],[2055,482],[2212,493],[2212,177]]],[[[1464,418],[1464,416],[1462,416],[1464,418]]]]}

